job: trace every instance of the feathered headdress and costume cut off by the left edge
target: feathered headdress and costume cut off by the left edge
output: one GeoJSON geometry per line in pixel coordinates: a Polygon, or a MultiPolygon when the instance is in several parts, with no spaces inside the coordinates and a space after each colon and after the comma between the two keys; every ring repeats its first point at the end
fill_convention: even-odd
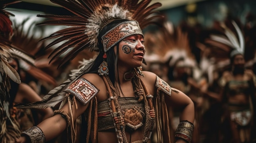
{"type": "Polygon", "coordinates": [[[10,80],[20,84],[20,76],[7,60],[11,57],[12,22],[9,16],[13,14],[4,10],[9,4],[20,2],[17,0],[0,0],[0,142],[14,142],[20,136],[18,122],[11,116],[9,105],[10,80]]]}

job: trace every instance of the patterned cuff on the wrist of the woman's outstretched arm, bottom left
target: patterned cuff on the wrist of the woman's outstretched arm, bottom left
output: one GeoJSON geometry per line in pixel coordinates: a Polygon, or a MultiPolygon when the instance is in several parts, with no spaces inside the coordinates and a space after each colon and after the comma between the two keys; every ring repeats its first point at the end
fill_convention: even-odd
{"type": "Polygon", "coordinates": [[[22,132],[22,136],[27,135],[29,136],[31,143],[44,143],[45,142],[45,134],[43,131],[34,126],[22,132]]]}

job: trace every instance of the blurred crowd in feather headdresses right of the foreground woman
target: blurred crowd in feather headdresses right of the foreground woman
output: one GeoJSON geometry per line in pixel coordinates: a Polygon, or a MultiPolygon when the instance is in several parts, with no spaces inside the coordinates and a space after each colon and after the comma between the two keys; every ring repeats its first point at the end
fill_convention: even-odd
{"type": "MultiPolygon", "coordinates": [[[[254,143],[256,45],[254,15],[211,28],[182,22],[145,34],[144,70],[186,93],[195,105],[193,143],[254,143]]],[[[173,111],[173,131],[179,111],[173,111]]]]}

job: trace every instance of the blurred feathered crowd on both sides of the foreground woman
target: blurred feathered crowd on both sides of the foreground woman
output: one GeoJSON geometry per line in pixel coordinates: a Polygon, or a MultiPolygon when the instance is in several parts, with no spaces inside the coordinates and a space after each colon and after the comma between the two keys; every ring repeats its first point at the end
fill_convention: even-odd
{"type": "MultiPolygon", "coordinates": [[[[157,30],[144,34],[146,65],[142,69],[157,74],[194,102],[193,143],[256,143],[254,18],[255,15],[248,13],[247,22],[242,24],[239,19],[228,17],[214,22],[211,28],[200,24],[191,26],[187,22],[174,26],[166,20],[157,30]]],[[[1,16],[0,19],[0,24],[7,20],[1,16]]],[[[1,143],[15,137],[16,130],[18,135],[53,114],[51,108],[23,110],[13,107],[14,104],[40,101],[49,90],[65,81],[72,69],[97,55],[97,52],[92,55],[82,51],[63,66],[58,67],[58,60],[49,64],[48,57],[52,56],[49,53],[54,48],[45,47],[44,41],[40,41],[43,37],[29,35],[34,32],[43,35],[43,26],[31,25],[31,29],[24,31],[27,20],[20,24],[9,20],[11,27],[0,27],[0,50],[13,49],[8,54],[1,53],[1,68],[8,68],[12,73],[4,75],[1,70],[1,95],[8,92],[0,100],[1,143]],[[6,58],[11,67],[2,66],[5,57],[11,57],[6,58]],[[15,74],[20,76],[20,82],[4,81],[4,77],[15,74]]],[[[175,107],[168,110],[173,111],[169,119],[174,134],[179,111],[175,107]]]]}

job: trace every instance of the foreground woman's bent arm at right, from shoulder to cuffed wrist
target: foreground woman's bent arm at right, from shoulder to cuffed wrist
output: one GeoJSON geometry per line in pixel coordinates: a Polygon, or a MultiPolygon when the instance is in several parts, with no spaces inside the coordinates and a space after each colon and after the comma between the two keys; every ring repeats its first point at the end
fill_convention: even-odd
{"type": "MultiPolygon", "coordinates": [[[[195,118],[193,101],[187,95],[185,95],[182,91],[177,90],[175,88],[170,88],[170,86],[168,86],[168,84],[165,81],[157,78],[154,73],[151,73],[151,72],[143,72],[143,73],[145,77],[142,77],[141,79],[146,84],[151,94],[156,93],[157,88],[161,88],[161,90],[163,91],[166,90],[164,94],[165,94],[165,102],[166,102],[167,109],[171,109],[171,108],[179,109],[181,111],[180,121],[183,121],[182,123],[180,123],[180,125],[182,124],[186,125],[185,127],[181,127],[181,129],[192,130],[190,132],[192,134],[193,122],[195,118]]],[[[169,111],[168,114],[171,114],[171,111],[169,111]]],[[[190,139],[192,137],[191,134],[187,136],[187,137],[190,137],[190,139]]],[[[184,139],[177,138],[176,143],[186,143],[186,141],[184,139]]]]}

